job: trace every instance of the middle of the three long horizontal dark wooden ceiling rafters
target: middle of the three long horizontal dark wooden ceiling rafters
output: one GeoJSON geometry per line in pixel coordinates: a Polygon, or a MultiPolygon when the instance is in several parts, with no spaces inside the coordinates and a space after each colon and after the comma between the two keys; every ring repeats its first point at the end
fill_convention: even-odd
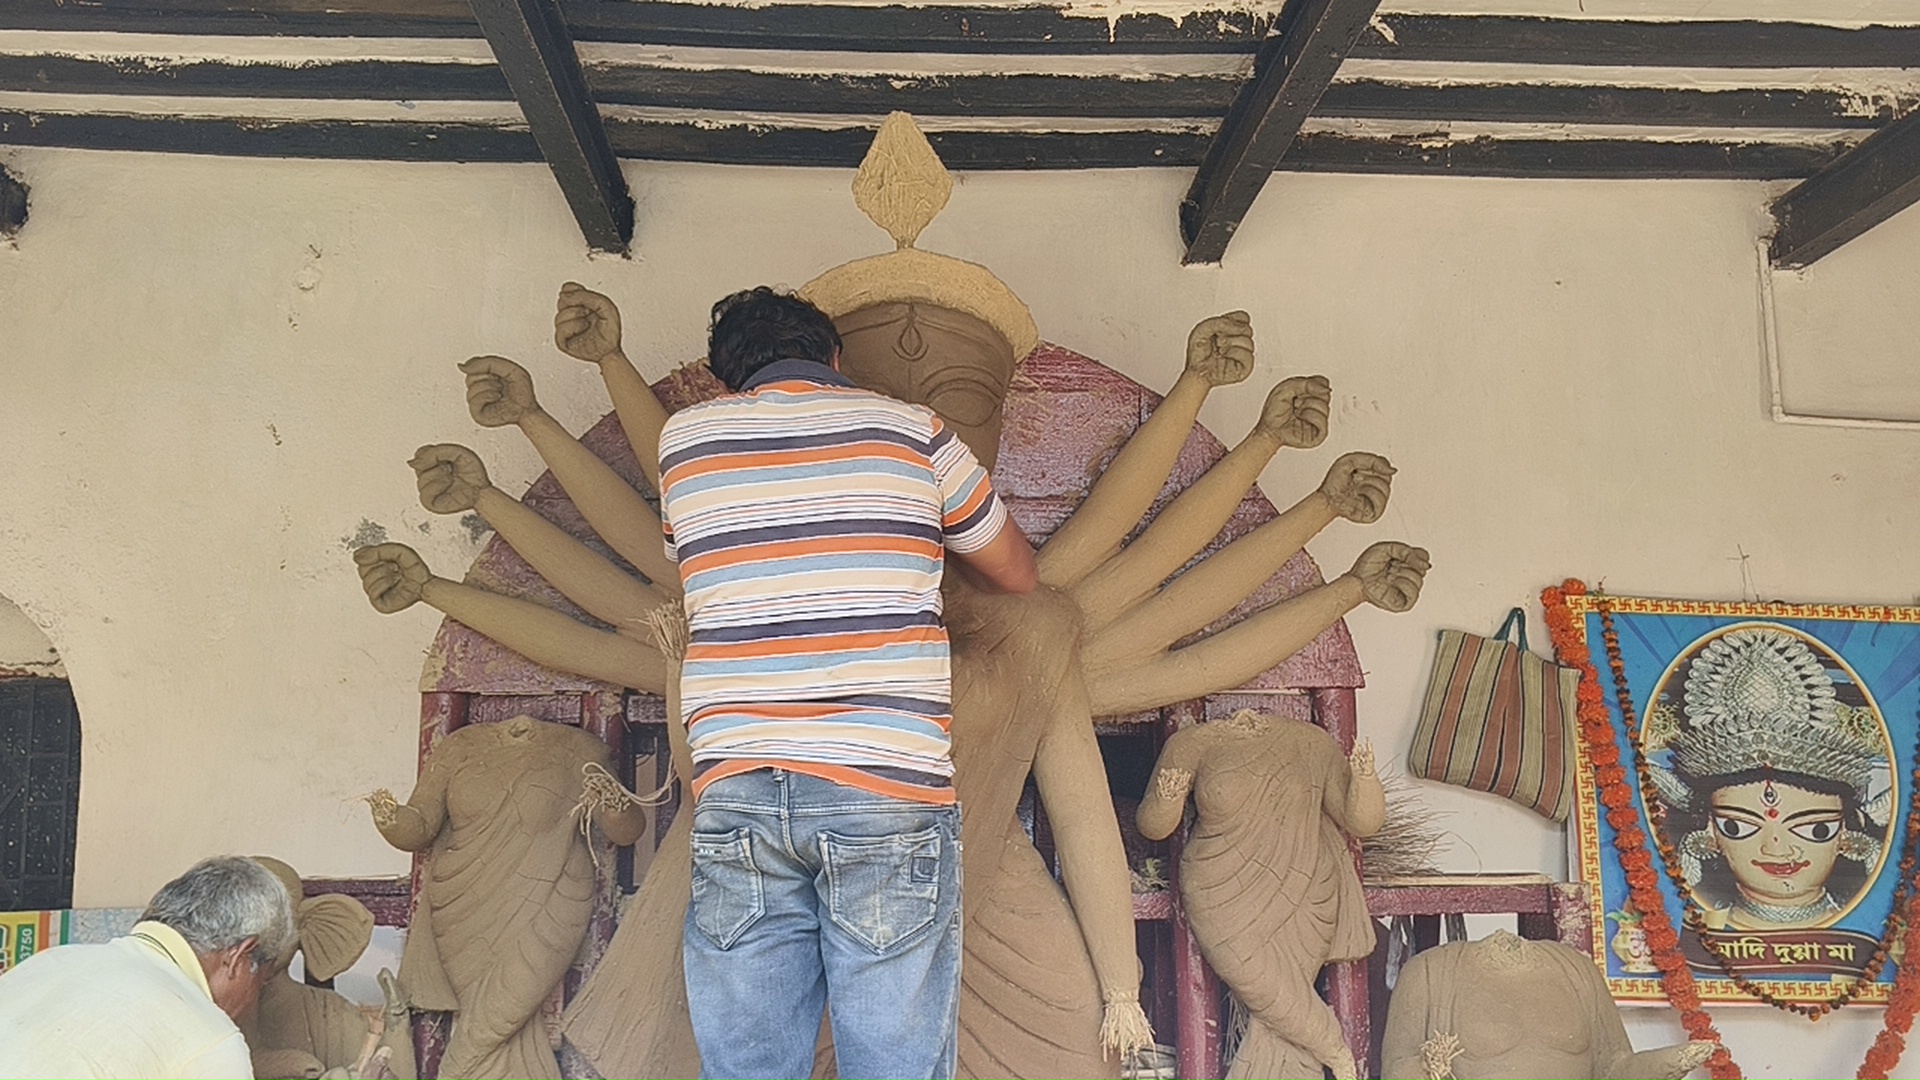
{"type": "MultiPolygon", "coordinates": [[[[1236,75],[843,75],[582,65],[603,106],[879,115],[1217,117],[1244,85],[1236,75]]],[[[511,100],[493,63],[217,61],[129,63],[119,58],[0,56],[0,90],[323,100],[511,100]]],[[[1688,127],[1872,129],[1897,106],[1839,88],[1701,90],[1544,83],[1334,83],[1313,115],[1409,121],[1634,123],[1688,127]]]]}

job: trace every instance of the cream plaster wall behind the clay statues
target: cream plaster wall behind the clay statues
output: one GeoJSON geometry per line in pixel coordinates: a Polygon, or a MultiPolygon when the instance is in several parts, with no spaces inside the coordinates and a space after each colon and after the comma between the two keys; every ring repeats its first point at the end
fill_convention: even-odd
{"type": "MultiPolygon", "coordinates": [[[[311,874],[405,867],[355,799],[413,778],[438,619],[374,615],[348,548],[384,532],[442,573],[472,557],[467,528],[413,500],[417,444],[472,444],[511,492],[538,473],[467,419],[457,359],[528,361],[578,430],[605,404],[545,344],[561,281],[614,294],[657,375],[699,356],[712,298],[885,246],[843,171],[632,165],[639,256],[622,261],[582,252],[541,167],[4,160],[35,202],[0,250],[0,594],[46,626],[84,717],[83,905],[136,905],[223,849],[311,874]]],[[[1250,309],[1261,369],[1204,417],[1229,442],[1281,375],[1332,377],[1332,438],[1265,484],[1284,503],[1356,448],[1400,465],[1382,523],[1311,548],[1331,573],[1377,538],[1432,550],[1415,613],[1350,619],[1382,757],[1404,753],[1438,628],[1526,603],[1544,648],[1534,598],[1567,575],[1653,596],[1920,590],[1920,434],[1766,419],[1770,188],[1283,175],[1223,267],[1181,269],[1185,183],[970,175],[924,244],[995,267],[1044,336],[1154,386],[1196,317],[1250,309]]],[[[1910,225],[1849,273],[1914,282],[1910,225]]],[[[1793,282],[1795,357],[1910,365],[1910,319],[1809,315],[1834,277],[1793,282]]],[[[1561,832],[1524,811],[1430,801],[1461,834],[1450,869],[1565,871],[1561,832]]],[[[1749,1011],[1728,1032],[1751,1074],[1824,1080],[1876,1022],[1749,1011]]],[[[1636,1017],[1644,1040],[1670,1026],[1636,1017]]]]}

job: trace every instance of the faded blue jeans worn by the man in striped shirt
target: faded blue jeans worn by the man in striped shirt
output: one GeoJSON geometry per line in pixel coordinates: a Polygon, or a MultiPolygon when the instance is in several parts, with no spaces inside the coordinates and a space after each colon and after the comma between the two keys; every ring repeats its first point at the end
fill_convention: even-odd
{"type": "Polygon", "coordinates": [[[701,1080],[950,1080],[960,809],[758,769],[693,807],[687,1011],[701,1080]]]}

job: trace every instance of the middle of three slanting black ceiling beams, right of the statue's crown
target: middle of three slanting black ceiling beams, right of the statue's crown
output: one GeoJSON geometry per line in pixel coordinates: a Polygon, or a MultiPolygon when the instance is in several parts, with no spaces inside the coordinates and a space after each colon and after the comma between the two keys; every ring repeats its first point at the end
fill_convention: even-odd
{"type": "Polygon", "coordinates": [[[1233,231],[1379,6],[1380,0],[1288,0],[1281,10],[1281,37],[1260,50],[1254,77],[1181,200],[1183,263],[1217,263],[1227,254],[1233,231]]]}

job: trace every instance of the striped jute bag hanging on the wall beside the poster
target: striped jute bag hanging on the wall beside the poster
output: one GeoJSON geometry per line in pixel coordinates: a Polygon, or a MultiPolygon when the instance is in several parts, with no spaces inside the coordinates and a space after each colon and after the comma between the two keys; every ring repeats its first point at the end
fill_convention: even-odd
{"type": "Polygon", "coordinates": [[[1492,638],[1440,630],[1407,773],[1505,796],[1551,821],[1572,809],[1580,673],[1526,650],[1515,607],[1492,638]],[[1519,642],[1511,642],[1515,626],[1519,642]]]}

